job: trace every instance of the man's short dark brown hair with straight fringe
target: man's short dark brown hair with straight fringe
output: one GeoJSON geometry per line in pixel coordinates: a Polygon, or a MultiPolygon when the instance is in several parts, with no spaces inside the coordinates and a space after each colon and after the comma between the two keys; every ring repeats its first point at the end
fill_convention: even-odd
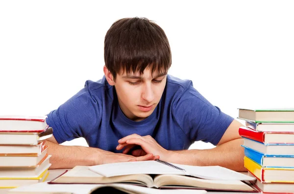
{"type": "Polygon", "coordinates": [[[172,53],[164,30],[147,18],[123,18],[111,25],[104,40],[104,61],[114,79],[149,67],[151,73],[166,73],[172,65],[172,53]]]}

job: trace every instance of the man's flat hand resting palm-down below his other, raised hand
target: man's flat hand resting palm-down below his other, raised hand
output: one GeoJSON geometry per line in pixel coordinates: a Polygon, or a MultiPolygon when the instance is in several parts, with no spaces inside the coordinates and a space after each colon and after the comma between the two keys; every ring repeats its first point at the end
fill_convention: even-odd
{"type": "Polygon", "coordinates": [[[144,156],[135,157],[132,155],[126,155],[123,153],[113,153],[111,151],[101,150],[100,152],[101,162],[100,164],[118,163],[118,162],[135,162],[135,161],[147,161],[158,159],[153,154],[147,154],[144,156]]]}

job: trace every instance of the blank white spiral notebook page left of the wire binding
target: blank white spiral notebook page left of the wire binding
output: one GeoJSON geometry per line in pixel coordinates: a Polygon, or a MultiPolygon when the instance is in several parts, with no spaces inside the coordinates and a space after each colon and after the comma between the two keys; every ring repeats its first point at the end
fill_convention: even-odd
{"type": "Polygon", "coordinates": [[[127,174],[186,174],[185,171],[173,169],[156,161],[112,163],[92,166],[89,169],[106,177],[127,174]]]}

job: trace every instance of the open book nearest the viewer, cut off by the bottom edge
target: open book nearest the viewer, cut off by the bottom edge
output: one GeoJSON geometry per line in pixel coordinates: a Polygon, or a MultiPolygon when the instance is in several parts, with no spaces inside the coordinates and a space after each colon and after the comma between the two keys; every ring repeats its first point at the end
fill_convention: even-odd
{"type": "Polygon", "coordinates": [[[47,182],[18,187],[8,194],[91,194],[98,188],[113,187],[129,194],[206,194],[204,190],[159,190],[128,184],[54,184],[47,182]]]}

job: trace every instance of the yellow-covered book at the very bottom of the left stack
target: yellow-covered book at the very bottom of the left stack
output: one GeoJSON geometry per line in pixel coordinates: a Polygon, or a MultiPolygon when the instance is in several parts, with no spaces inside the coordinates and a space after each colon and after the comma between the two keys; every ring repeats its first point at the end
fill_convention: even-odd
{"type": "Polygon", "coordinates": [[[46,169],[38,177],[24,177],[24,178],[0,178],[0,189],[16,188],[23,185],[29,185],[39,182],[44,182],[49,175],[46,169]]]}

